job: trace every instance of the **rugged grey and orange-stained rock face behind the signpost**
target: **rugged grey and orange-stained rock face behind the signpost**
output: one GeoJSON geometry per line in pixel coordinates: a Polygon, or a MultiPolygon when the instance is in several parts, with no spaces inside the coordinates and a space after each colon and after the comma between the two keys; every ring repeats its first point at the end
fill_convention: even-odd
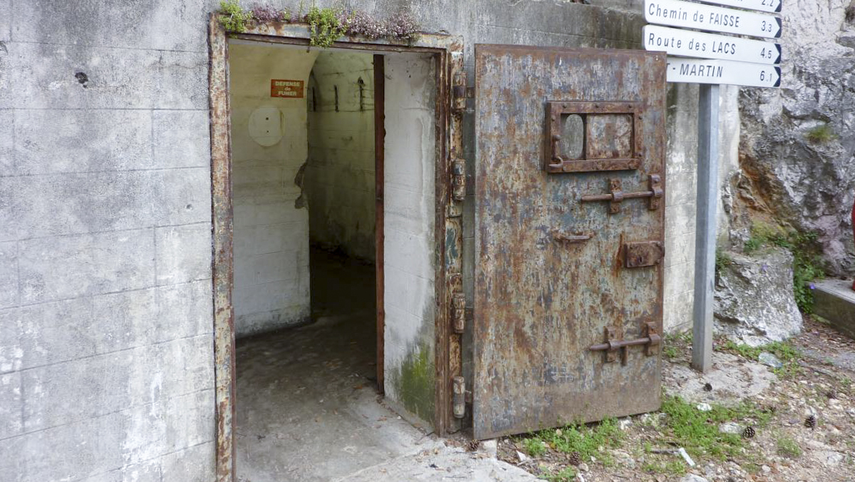
{"type": "Polygon", "coordinates": [[[782,88],[740,93],[740,170],[725,180],[730,238],[752,220],[817,231],[828,270],[855,274],[855,0],[784,4],[782,88]]]}

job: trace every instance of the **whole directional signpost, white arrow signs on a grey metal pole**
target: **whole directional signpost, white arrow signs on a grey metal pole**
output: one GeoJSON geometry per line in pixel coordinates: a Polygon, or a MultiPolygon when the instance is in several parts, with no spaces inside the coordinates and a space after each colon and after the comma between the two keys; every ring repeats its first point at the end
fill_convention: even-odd
{"type": "Polygon", "coordinates": [[[692,366],[712,366],[712,301],[716,269],[718,190],[718,86],[781,86],[781,0],[645,0],[644,46],[666,51],[669,82],[700,84],[698,116],[698,211],[692,366]],[[705,3],[715,3],[729,9],[705,3]],[[764,12],[764,13],[758,13],[764,12]],[[661,27],[666,26],[666,27],[661,27]],[[676,27],[676,28],[672,28],[676,27]],[[685,30],[693,29],[693,30],[685,30]],[[705,32],[698,32],[699,30],[705,32]],[[712,32],[712,33],[707,33],[712,32]]]}

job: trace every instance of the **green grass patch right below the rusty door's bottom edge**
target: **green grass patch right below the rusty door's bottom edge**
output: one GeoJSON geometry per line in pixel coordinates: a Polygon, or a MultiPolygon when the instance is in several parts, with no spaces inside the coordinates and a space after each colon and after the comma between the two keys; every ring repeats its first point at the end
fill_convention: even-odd
{"type": "Polygon", "coordinates": [[[590,426],[572,424],[534,432],[522,439],[522,447],[532,456],[543,455],[546,447],[565,454],[579,452],[582,461],[590,461],[593,456],[608,467],[611,457],[608,453],[600,452],[599,447],[620,447],[622,438],[623,432],[617,426],[617,421],[605,419],[590,426]],[[534,452],[531,449],[534,449],[534,452]],[[541,449],[543,452],[539,452],[541,449]],[[539,453],[535,455],[535,452],[539,453]]]}

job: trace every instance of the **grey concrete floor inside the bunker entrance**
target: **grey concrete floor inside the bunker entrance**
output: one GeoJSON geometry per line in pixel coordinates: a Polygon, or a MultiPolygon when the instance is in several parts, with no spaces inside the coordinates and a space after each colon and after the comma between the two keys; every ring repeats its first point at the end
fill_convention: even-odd
{"type": "Polygon", "coordinates": [[[238,479],[330,480],[434,443],[381,403],[374,266],[312,253],[315,323],[237,346],[238,479]]]}

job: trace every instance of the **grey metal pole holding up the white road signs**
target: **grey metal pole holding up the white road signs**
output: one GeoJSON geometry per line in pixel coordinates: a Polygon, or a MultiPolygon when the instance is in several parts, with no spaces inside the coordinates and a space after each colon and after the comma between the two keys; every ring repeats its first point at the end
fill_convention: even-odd
{"type": "Polygon", "coordinates": [[[718,84],[700,85],[697,190],[692,367],[706,372],[712,366],[712,296],[716,279],[718,84]]]}

